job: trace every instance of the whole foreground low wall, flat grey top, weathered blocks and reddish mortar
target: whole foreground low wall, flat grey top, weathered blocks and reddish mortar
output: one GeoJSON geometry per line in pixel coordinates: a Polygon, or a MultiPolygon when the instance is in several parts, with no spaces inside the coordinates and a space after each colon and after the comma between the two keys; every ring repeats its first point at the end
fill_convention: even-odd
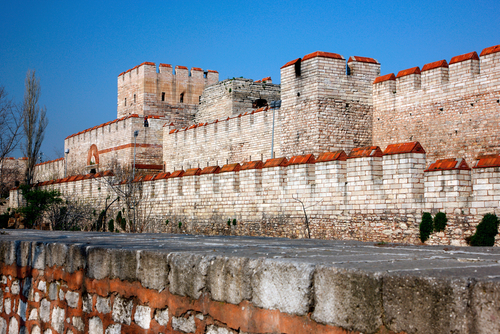
{"type": "Polygon", "coordinates": [[[500,331],[498,248],[8,233],[0,237],[0,333],[500,331]],[[81,252],[53,253],[74,247],[81,252]],[[119,260],[124,252],[135,256],[119,260]],[[149,254],[165,259],[163,271],[144,261],[149,254]],[[83,257],[82,267],[72,268],[81,261],[75,256],[83,257]],[[40,257],[42,265],[34,268],[40,257]],[[151,273],[166,278],[154,288],[144,284],[150,265],[151,273]],[[123,268],[122,278],[112,274],[114,266],[123,268]],[[70,305],[72,298],[52,299],[50,287],[77,295],[77,306],[70,305]]]}

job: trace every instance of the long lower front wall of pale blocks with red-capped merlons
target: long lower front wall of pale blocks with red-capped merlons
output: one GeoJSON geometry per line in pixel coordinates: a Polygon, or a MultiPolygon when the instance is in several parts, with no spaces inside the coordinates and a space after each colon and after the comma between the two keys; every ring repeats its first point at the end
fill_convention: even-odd
{"type": "MultiPolygon", "coordinates": [[[[404,243],[420,242],[423,212],[442,211],[446,230],[429,243],[466,245],[484,214],[500,214],[500,157],[478,160],[472,170],[461,159],[426,169],[425,160],[418,143],[407,143],[384,153],[367,147],[349,156],[339,151],[176,171],[138,183],[137,211],[171,222],[155,232],[296,238],[307,235],[303,203],[313,238],[404,243]],[[226,224],[233,219],[236,225],[226,224]]],[[[98,179],[76,182],[41,186],[87,201],[113,192],[98,179]]]]}

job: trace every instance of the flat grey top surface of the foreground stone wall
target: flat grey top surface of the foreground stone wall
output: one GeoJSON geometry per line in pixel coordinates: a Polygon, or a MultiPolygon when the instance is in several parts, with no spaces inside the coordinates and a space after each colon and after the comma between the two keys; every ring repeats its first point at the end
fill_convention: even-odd
{"type": "Polygon", "coordinates": [[[500,248],[415,246],[358,241],[291,240],[263,237],[178,234],[117,234],[1,230],[0,240],[61,242],[109,249],[154,250],[361,269],[426,277],[474,278],[500,282],[500,248]]]}

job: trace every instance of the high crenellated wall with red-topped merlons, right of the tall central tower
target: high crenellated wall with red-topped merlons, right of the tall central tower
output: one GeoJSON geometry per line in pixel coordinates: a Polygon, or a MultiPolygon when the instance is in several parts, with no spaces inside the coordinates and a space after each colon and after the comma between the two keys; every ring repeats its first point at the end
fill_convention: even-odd
{"type": "Polygon", "coordinates": [[[373,144],[417,140],[429,160],[500,152],[500,47],[388,74],[373,87],[373,144]]]}

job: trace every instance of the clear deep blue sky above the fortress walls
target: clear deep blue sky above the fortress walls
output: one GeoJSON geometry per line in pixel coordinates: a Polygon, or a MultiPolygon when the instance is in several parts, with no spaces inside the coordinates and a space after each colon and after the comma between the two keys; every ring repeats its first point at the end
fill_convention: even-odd
{"type": "MultiPolygon", "coordinates": [[[[382,74],[500,44],[500,1],[3,1],[0,85],[35,69],[46,160],[116,118],[117,76],[144,61],[271,76],[313,51],[376,58],[382,74]]],[[[19,156],[20,153],[16,154],[19,156]]]]}

